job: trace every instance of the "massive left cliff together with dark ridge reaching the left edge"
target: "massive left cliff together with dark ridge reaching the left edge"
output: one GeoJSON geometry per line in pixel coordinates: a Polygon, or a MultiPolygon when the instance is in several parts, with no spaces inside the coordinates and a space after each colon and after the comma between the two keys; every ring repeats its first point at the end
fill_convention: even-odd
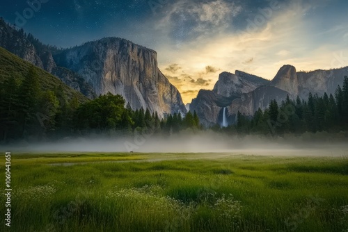
{"type": "Polygon", "coordinates": [[[157,67],[157,53],[119,38],[58,50],[0,19],[0,47],[57,76],[93,99],[120,94],[132,108],[148,108],[159,117],[186,113],[177,89],[157,67]],[[54,56],[52,55],[54,52],[54,56]]]}

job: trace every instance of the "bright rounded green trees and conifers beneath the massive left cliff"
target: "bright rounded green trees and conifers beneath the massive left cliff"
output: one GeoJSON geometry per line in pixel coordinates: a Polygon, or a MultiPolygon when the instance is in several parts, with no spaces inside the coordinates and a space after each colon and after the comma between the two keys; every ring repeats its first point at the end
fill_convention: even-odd
{"type": "Polygon", "coordinates": [[[132,110],[129,103],[120,95],[105,94],[88,101],[77,108],[74,126],[81,133],[90,131],[108,133],[121,131],[131,134],[134,130],[146,133],[175,133],[182,129],[200,129],[200,122],[195,113],[168,115],[159,119],[157,113],[150,110],[132,110]]]}

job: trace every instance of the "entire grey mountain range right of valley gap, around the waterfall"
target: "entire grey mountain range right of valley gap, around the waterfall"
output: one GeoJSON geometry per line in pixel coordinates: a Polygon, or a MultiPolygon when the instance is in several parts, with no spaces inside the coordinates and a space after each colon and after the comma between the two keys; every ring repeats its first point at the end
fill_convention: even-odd
{"type": "Polygon", "coordinates": [[[238,111],[251,116],[258,108],[267,108],[273,99],[280,103],[287,95],[292,99],[297,96],[307,99],[310,92],[319,96],[324,92],[334,94],[345,76],[348,76],[348,67],[296,72],[294,66],[284,65],[272,81],[239,71],[236,74],[223,72],[214,90],[198,93],[190,110],[197,111],[205,126],[214,126],[221,124],[223,107],[227,107],[228,123],[232,124],[238,111]]]}

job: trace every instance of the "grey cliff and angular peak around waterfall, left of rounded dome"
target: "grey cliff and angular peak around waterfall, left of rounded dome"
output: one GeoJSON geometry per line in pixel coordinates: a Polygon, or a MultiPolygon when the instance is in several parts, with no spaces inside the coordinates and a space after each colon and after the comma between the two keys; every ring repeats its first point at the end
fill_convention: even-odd
{"type": "MultiPolygon", "coordinates": [[[[223,108],[231,105],[233,101],[242,95],[252,92],[262,85],[267,85],[270,81],[259,76],[236,71],[235,74],[223,72],[219,75],[214,89],[200,90],[196,99],[190,105],[191,111],[196,111],[200,122],[204,126],[214,126],[221,124],[223,119],[223,108]]],[[[246,95],[247,96],[247,95],[246,95]]],[[[228,108],[228,115],[233,112],[228,108]]],[[[228,117],[231,122],[232,117],[228,117]]]]}

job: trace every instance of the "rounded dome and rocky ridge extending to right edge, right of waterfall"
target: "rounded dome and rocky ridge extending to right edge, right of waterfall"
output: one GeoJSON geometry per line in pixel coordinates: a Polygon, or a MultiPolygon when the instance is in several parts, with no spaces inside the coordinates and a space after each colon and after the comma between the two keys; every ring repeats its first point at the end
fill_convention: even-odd
{"type": "Polygon", "coordinates": [[[348,76],[348,67],[331,70],[315,70],[313,72],[296,72],[291,65],[280,68],[269,85],[264,85],[241,98],[232,101],[228,108],[230,114],[237,114],[238,110],[246,115],[253,115],[258,108],[264,110],[271,100],[278,103],[285,100],[287,95],[295,99],[307,99],[308,94],[323,95],[334,94],[338,85],[342,85],[343,79],[348,76]]]}

